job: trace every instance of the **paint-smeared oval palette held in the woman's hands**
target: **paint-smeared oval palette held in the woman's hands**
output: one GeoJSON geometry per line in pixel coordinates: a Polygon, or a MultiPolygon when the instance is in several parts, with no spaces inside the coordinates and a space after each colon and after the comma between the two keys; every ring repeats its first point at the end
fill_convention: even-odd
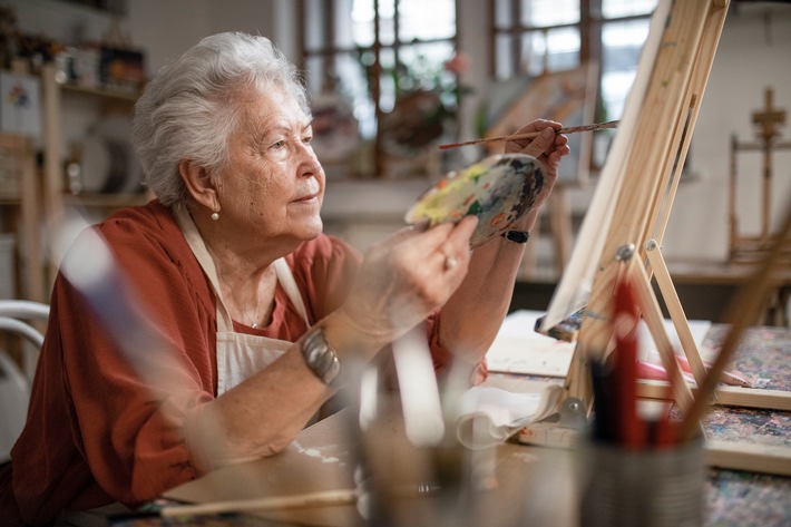
{"type": "Polygon", "coordinates": [[[489,156],[437,182],[418,198],[404,219],[410,225],[428,222],[434,226],[473,214],[479,219],[470,245],[477,247],[527,214],[536,204],[544,180],[541,164],[533,156],[489,156]]]}

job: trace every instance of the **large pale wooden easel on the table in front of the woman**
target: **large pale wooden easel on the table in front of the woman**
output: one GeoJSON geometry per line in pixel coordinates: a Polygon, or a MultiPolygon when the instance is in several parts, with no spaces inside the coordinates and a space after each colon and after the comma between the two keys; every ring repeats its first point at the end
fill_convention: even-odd
{"type": "MultiPolygon", "coordinates": [[[[598,251],[593,244],[590,254],[583,254],[589,256],[588,260],[597,258],[597,265],[572,365],[566,377],[566,399],[560,409],[558,428],[572,426],[575,420],[578,422],[579,414],[587,414],[590,410],[593,393],[588,364],[589,361],[605,359],[612,351],[612,302],[615,285],[621,277],[628,277],[636,287],[643,319],[668,373],[672,390],[670,398],[675,400],[682,412],[691,407],[693,396],[683,380],[665,332],[662,311],[651,285],[653,276],[656,277],[697,384],[703,386],[706,379],[705,367],[660,247],[724,25],[727,3],[727,0],[676,0],[671,7],[663,2],[657,7],[655,17],[658,18],[652,21],[652,32],[654,27],[664,29],[651,76],[641,77],[638,71],[633,90],[641,88],[637,86],[638,81],[644,82],[638,90],[642,99],[636,99],[638,106],[627,107],[627,113],[635,109],[639,111],[633,111],[628,116],[625,113],[622,123],[626,121],[626,128],[621,126],[618,129],[618,135],[624,134],[621,136],[622,144],[617,145],[617,149],[614,144],[611,152],[611,157],[615,154],[617,159],[607,160],[608,164],[613,162],[614,170],[621,176],[619,186],[613,187],[615,205],[612,221],[607,218],[605,222],[606,236],[600,244],[603,248],[598,251]]],[[[629,100],[629,105],[634,103],[629,100]]],[[[580,236],[585,234],[585,227],[584,224],[580,236]]],[[[569,263],[569,270],[576,272],[575,255],[569,263]]],[[[580,274],[580,280],[582,276],[580,274]]],[[[570,305],[568,299],[564,299],[564,302],[570,305]]],[[[666,391],[667,387],[663,390],[666,391]]],[[[650,390],[638,392],[638,396],[667,398],[664,393],[650,393],[650,390]]],[[[734,388],[720,388],[716,391],[716,397],[723,402],[727,400],[729,403],[781,410],[791,408],[789,396],[791,394],[788,392],[769,393],[766,390],[734,388]]],[[[546,437],[550,437],[550,433],[546,437]]],[[[788,465],[791,456],[783,452],[782,457],[784,466],[788,465]]]]}

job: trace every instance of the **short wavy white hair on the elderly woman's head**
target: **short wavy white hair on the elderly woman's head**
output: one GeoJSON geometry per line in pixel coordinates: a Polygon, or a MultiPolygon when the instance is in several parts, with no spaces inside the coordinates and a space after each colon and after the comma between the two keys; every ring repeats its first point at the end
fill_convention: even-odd
{"type": "Polygon", "coordinates": [[[265,37],[224,32],[206,37],[157,72],[135,105],[133,143],[143,180],[165,205],[187,198],[178,164],[189,159],[213,175],[227,164],[247,89],[280,88],[310,115],[296,67],[265,37]]]}

